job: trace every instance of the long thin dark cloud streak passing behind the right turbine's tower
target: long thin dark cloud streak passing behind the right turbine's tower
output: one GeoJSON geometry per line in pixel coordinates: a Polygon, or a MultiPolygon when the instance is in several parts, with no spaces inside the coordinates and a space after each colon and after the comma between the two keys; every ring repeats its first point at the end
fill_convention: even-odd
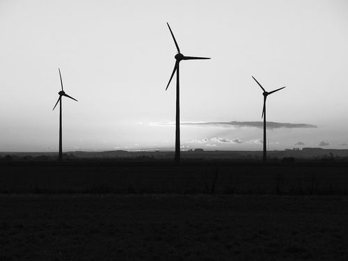
{"type": "MultiPolygon", "coordinates": [[[[200,126],[200,127],[255,127],[263,128],[262,121],[230,121],[230,122],[182,122],[180,125],[200,126]]],[[[305,123],[283,123],[283,122],[267,122],[267,129],[279,128],[317,128],[315,125],[305,123]]]]}

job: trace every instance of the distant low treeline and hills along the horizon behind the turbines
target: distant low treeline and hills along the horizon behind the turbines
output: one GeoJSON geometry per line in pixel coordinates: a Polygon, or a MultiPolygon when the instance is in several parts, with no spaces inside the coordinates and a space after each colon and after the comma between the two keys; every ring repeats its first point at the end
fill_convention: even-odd
{"type": "MultiPolygon", "coordinates": [[[[67,152],[64,161],[171,161],[174,152],[123,150],[106,152],[67,152]]],[[[57,161],[56,152],[0,152],[1,162],[57,161]]],[[[260,161],[261,151],[204,151],[182,152],[183,161],[260,161]]],[[[269,162],[336,161],[347,162],[348,150],[275,150],[268,155],[269,162]]]]}

